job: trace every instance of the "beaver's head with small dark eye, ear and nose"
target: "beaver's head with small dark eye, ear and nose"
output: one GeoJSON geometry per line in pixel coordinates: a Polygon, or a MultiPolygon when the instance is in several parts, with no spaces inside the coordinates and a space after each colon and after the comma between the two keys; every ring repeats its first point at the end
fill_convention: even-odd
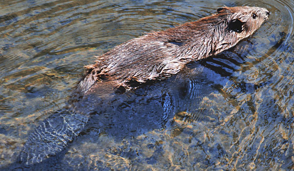
{"type": "Polygon", "coordinates": [[[270,15],[265,8],[249,6],[223,7],[217,11],[218,16],[226,16],[227,22],[224,23],[239,39],[252,35],[270,15]]]}

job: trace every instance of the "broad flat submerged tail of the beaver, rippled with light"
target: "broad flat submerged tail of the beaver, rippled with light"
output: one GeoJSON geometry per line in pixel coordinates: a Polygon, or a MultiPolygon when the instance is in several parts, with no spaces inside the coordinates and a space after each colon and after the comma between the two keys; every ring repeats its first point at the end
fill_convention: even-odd
{"type": "Polygon", "coordinates": [[[87,115],[61,109],[42,121],[28,136],[18,163],[40,163],[62,151],[85,127],[87,115]]]}

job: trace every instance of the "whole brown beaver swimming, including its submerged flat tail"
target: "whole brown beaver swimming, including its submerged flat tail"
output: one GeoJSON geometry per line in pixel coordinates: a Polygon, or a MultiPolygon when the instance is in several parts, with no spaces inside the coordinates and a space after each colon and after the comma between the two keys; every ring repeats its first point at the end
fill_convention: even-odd
{"type": "Polygon", "coordinates": [[[165,79],[187,63],[216,55],[252,35],[270,15],[265,8],[248,6],[223,7],[217,12],[198,21],[148,33],[97,57],[96,64],[86,66],[87,73],[74,91],[69,107],[49,116],[29,135],[19,162],[39,163],[63,150],[82,131],[91,113],[105,111],[96,107],[102,106],[100,97],[165,79]]]}

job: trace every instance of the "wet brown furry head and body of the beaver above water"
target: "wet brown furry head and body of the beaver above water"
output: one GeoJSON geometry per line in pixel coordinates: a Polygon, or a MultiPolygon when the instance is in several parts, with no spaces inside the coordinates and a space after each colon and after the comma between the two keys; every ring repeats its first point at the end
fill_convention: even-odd
{"type": "Polygon", "coordinates": [[[98,56],[96,64],[86,66],[87,74],[78,90],[95,91],[101,82],[128,90],[147,81],[165,79],[187,63],[234,46],[252,35],[270,15],[265,8],[248,6],[223,7],[217,12],[114,47],[98,56]]]}

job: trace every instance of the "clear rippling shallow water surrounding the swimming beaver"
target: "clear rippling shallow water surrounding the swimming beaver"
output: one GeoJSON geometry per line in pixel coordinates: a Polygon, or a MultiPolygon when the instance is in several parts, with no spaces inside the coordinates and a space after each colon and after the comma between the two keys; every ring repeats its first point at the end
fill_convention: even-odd
{"type": "Polygon", "coordinates": [[[0,1],[0,168],[294,169],[293,9],[293,0],[0,1]],[[35,126],[66,106],[94,55],[223,5],[266,7],[270,19],[234,48],[190,64],[195,72],[180,74],[187,79],[154,85],[173,90],[173,101],[163,103],[167,120],[148,118],[146,110],[146,118],[132,116],[133,126],[113,116],[111,126],[100,128],[97,120],[106,116],[93,116],[92,125],[61,154],[37,166],[15,163],[35,126]]]}

